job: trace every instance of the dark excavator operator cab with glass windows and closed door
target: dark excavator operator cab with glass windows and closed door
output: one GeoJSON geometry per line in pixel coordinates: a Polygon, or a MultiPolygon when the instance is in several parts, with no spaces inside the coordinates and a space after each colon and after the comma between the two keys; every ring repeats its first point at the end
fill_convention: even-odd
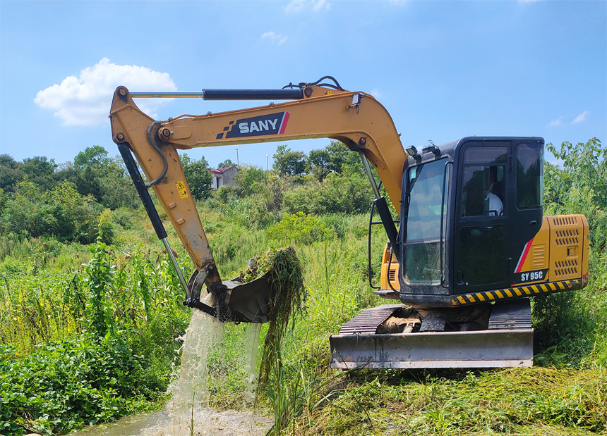
{"type": "Polygon", "coordinates": [[[424,151],[402,179],[401,301],[452,306],[510,287],[541,228],[543,139],[467,137],[424,151]]]}

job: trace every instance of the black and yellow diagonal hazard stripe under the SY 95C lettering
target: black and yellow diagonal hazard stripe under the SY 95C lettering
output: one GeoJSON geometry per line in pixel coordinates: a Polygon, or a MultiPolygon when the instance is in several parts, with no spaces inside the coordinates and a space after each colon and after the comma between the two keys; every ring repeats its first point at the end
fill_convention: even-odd
{"type": "Polygon", "coordinates": [[[472,294],[460,294],[451,297],[451,304],[452,306],[463,306],[464,304],[491,303],[493,301],[504,301],[507,299],[551,294],[553,292],[571,291],[582,289],[582,287],[587,285],[587,282],[587,278],[582,278],[576,280],[563,280],[562,282],[507,287],[504,289],[495,289],[493,291],[474,292],[472,294]]]}

